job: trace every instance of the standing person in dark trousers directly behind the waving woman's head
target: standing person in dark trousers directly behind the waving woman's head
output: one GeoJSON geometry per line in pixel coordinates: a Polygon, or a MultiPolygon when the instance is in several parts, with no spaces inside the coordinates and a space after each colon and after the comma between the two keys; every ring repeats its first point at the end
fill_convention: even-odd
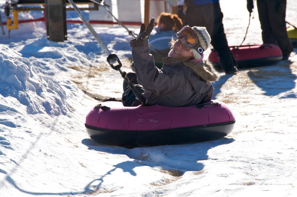
{"type": "Polygon", "coordinates": [[[237,62],[228,46],[223,26],[223,13],[219,0],[179,0],[178,16],[184,19],[184,25],[206,27],[211,44],[217,51],[220,64],[226,74],[237,72],[237,62]],[[186,4],[186,13],[183,12],[186,4]]]}

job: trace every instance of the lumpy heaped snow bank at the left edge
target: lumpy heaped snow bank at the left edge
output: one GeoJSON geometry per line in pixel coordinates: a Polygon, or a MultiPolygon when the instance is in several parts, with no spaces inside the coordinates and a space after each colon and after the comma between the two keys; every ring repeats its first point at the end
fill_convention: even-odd
{"type": "Polygon", "coordinates": [[[37,74],[31,62],[20,53],[3,46],[0,50],[0,93],[3,97],[16,98],[30,114],[58,116],[70,111],[66,92],[56,80],[37,74]]]}

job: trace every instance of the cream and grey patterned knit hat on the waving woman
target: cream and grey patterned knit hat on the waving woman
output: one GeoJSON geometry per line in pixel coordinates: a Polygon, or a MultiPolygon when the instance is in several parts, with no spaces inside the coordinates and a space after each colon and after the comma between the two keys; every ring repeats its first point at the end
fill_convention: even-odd
{"type": "MultiPolygon", "coordinates": [[[[205,27],[192,27],[192,29],[196,32],[199,42],[200,42],[200,46],[204,49],[204,51],[209,47],[210,44],[210,35],[207,32],[205,27]]],[[[194,59],[200,59],[201,58],[201,54],[196,50],[196,49],[191,49],[191,51],[193,52],[194,55],[194,59]]]]}

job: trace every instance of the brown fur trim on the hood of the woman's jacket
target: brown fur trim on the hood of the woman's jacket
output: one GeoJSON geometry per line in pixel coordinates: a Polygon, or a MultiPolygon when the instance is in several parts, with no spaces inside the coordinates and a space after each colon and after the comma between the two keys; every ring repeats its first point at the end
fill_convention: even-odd
{"type": "Polygon", "coordinates": [[[189,68],[192,68],[197,75],[200,77],[201,80],[205,81],[206,83],[212,83],[220,79],[219,73],[213,68],[212,63],[208,60],[204,60],[205,64],[199,64],[197,62],[186,62],[184,61],[183,64],[189,68]]]}

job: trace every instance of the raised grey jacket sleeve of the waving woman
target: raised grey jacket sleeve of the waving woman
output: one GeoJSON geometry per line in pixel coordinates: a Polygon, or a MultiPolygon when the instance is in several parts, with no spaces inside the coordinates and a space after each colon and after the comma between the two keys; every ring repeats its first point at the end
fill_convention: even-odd
{"type": "Polygon", "coordinates": [[[137,82],[145,90],[154,92],[155,95],[163,95],[170,92],[179,83],[178,72],[162,72],[155,67],[153,55],[149,54],[149,41],[136,40],[130,41],[132,47],[132,60],[137,75],[137,82]]]}

